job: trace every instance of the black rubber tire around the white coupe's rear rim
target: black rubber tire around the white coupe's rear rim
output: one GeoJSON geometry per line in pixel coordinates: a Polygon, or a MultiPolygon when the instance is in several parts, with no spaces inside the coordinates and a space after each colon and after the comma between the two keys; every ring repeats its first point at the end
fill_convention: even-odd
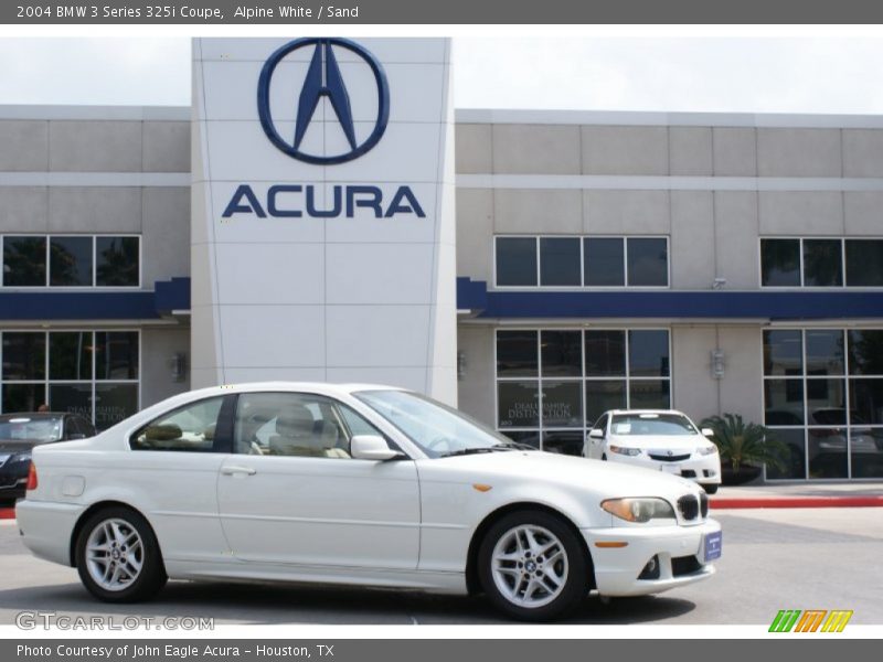
{"type": "MultiPolygon", "coordinates": [[[[106,538],[107,536],[104,537],[106,538]]],[[[138,602],[148,600],[152,598],[168,580],[166,567],[162,564],[162,555],[159,551],[157,536],[153,535],[153,530],[139,513],[127,508],[111,506],[102,509],[92,514],[83,524],[77,535],[76,546],[74,548],[74,560],[83,586],[85,586],[86,590],[93,596],[105,602],[138,602]],[[118,586],[114,590],[102,586],[98,580],[93,577],[91,572],[91,568],[94,570],[100,567],[103,560],[91,562],[86,557],[86,546],[89,538],[95,534],[95,536],[98,536],[98,540],[104,540],[102,536],[106,531],[105,524],[110,525],[110,522],[116,523],[123,533],[127,533],[129,536],[137,534],[138,538],[140,538],[140,545],[136,545],[135,549],[116,543],[116,541],[114,543],[108,543],[108,545],[114,545],[115,548],[118,548],[117,552],[108,549],[105,556],[109,563],[114,564],[114,567],[116,565],[121,565],[120,562],[126,560],[126,554],[131,554],[134,560],[140,562],[140,570],[135,573],[134,578],[125,572],[119,573],[120,579],[117,581],[118,586]],[[113,553],[118,555],[116,559],[111,557],[113,553]]]]}

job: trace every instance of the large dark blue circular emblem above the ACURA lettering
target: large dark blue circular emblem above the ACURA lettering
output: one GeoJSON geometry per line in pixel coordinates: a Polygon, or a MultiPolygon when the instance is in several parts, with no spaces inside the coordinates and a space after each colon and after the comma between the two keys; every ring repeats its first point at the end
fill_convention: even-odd
{"type": "Polygon", "coordinates": [[[371,150],[383,137],[390,119],[390,85],[377,58],[355,42],[339,38],[298,39],[278,49],[264,63],[264,68],[260,71],[260,77],[257,83],[257,113],[260,118],[260,126],[269,141],[289,157],[317,166],[345,163],[371,150]],[[295,120],[294,136],[286,137],[278,130],[277,121],[290,121],[292,117],[274,118],[270,111],[270,88],[274,74],[286,56],[301,49],[310,47],[312,47],[312,55],[307,68],[307,75],[298,98],[291,100],[295,120]],[[338,56],[334,54],[336,49],[354,53],[368,64],[373,73],[377,90],[377,114],[374,118],[371,134],[361,141],[357,137],[350,95],[338,64],[338,56]],[[313,115],[323,99],[327,99],[330,104],[349,146],[349,149],[341,153],[312,153],[304,147],[304,140],[310,125],[313,121],[318,121],[313,115]]]}

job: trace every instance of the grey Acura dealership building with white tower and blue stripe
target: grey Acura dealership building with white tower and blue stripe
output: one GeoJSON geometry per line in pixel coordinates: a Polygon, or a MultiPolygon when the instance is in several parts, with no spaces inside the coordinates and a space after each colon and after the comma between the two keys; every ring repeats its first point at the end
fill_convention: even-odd
{"type": "MultiPolygon", "coordinates": [[[[541,73],[541,72],[538,72],[541,73]]],[[[0,106],[0,408],[370,382],[578,453],[735,413],[883,478],[883,118],[455,110],[444,39],[198,39],[192,107],[0,106]]]]}

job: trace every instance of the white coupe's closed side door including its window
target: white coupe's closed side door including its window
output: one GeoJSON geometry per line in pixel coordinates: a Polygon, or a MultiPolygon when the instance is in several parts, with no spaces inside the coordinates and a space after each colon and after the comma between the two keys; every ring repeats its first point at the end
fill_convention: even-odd
{"type": "Polygon", "coordinates": [[[350,407],[309,393],[243,393],[217,502],[245,562],[415,568],[414,461],[353,459],[353,434],[380,435],[350,407]]]}

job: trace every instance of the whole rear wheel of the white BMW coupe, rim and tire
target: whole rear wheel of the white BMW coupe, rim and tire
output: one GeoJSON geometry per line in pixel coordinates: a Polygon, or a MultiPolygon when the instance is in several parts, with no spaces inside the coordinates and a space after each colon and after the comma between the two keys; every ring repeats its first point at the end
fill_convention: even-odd
{"type": "Polygon", "coordinates": [[[86,589],[107,602],[151,598],[167,580],[150,524],[125,508],[104,509],[85,522],[77,536],[75,560],[86,589]]]}

